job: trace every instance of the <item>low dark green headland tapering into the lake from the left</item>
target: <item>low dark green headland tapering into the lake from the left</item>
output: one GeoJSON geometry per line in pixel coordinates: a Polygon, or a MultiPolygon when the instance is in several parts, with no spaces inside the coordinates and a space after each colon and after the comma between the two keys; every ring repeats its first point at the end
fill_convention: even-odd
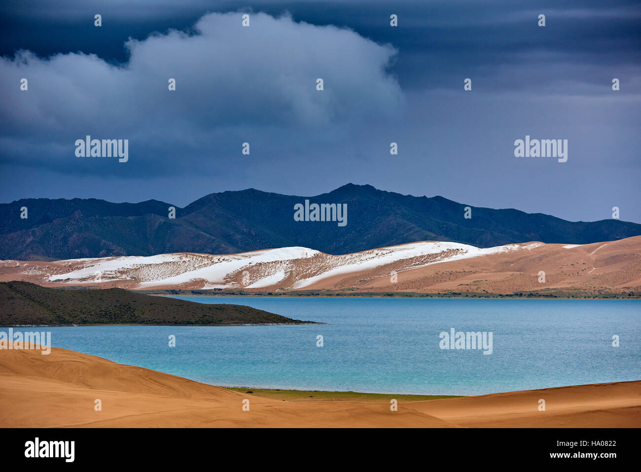
{"type": "Polygon", "coordinates": [[[242,305],[205,305],[124,289],[62,290],[0,283],[0,326],[305,323],[242,305]]]}

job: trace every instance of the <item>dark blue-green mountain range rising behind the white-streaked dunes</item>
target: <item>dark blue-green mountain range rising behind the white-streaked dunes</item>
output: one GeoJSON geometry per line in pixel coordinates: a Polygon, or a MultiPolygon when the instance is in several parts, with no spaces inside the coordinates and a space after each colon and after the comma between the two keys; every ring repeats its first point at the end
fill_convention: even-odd
{"type": "Polygon", "coordinates": [[[519,210],[472,208],[440,196],[401,195],[348,184],[313,197],[248,189],[204,196],[185,208],[149,200],[24,199],[0,205],[0,259],[49,260],[195,252],[232,254],[303,246],[345,254],[416,242],[479,248],[541,241],[590,244],[641,235],[641,224],[606,219],[572,223],[519,210]],[[347,225],[294,221],[294,205],[346,203],[347,225]],[[169,219],[170,206],[176,218],[169,219]],[[28,218],[21,219],[21,207],[28,218]]]}

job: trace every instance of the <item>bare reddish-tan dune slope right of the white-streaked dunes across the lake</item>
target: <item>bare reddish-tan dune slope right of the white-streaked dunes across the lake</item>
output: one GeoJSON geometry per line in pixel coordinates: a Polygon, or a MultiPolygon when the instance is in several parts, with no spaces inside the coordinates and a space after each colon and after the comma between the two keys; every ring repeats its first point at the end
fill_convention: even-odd
{"type": "Polygon", "coordinates": [[[389,264],[324,278],[304,288],[494,294],[556,290],[590,295],[641,291],[641,236],[578,246],[540,242],[517,246],[524,250],[444,260],[417,268],[389,264]],[[397,272],[394,283],[392,271],[397,272]],[[540,271],[545,273],[544,280],[540,271]]]}

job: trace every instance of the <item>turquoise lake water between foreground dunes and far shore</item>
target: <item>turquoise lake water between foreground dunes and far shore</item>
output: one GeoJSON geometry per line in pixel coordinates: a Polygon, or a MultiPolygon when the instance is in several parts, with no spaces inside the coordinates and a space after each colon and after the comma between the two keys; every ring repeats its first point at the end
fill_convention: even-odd
{"type": "Polygon", "coordinates": [[[181,298],[330,324],[49,328],[53,346],[226,386],[467,395],[641,379],[641,301],[181,298]],[[492,354],[441,350],[450,328],[492,332],[492,354]]]}

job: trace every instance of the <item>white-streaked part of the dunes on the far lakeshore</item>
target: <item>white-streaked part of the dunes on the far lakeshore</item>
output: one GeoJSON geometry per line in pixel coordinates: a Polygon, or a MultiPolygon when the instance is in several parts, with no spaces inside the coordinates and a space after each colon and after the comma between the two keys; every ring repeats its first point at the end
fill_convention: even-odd
{"type": "MultiPolygon", "coordinates": [[[[540,243],[531,243],[540,244],[540,243]]],[[[414,242],[346,255],[328,255],[314,249],[264,249],[233,255],[196,253],[151,257],[83,258],[24,263],[22,274],[41,274],[42,282],[67,285],[117,285],[133,289],[247,288],[301,289],[326,278],[389,267],[404,271],[429,264],[527,249],[524,244],[475,248],[455,242],[414,242]]],[[[15,261],[4,267],[17,269],[15,261]]]]}

